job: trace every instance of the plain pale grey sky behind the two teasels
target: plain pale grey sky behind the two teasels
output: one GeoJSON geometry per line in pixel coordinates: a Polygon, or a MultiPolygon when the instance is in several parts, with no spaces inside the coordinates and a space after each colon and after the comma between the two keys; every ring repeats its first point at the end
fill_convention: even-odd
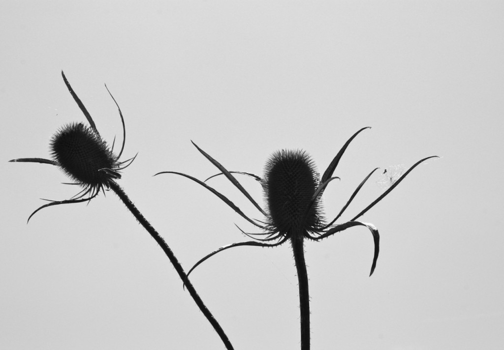
{"type": "MultiPolygon", "coordinates": [[[[355,228],[307,242],[313,349],[498,349],[504,341],[504,3],[5,2],[0,11],[0,348],[221,349],[161,249],[112,193],[77,193],[48,158],[62,125],[85,121],[61,69],[110,143],[138,157],[121,186],[184,268],[254,228],[182,177],[262,175],[279,149],[324,171],[334,217],[374,167],[415,169],[355,228]]],[[[124,158],[126,159],[126,158],[124,158]]],[[[375,175],[343,220],[383,191],[375,175]]],[[[262,202],[261,188],[240,178],[262,202]]],[[[211,180],[262,219],[224,178],[211,180]]],[[[192,281],[236,349],[299,346],[290,246],[238,247],[192,281]]]]}

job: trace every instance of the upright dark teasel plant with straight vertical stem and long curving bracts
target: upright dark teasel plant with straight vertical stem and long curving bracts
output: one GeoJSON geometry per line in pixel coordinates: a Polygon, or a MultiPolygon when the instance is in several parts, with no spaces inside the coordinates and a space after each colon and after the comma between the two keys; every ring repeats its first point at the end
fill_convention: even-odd
{"type": "Polygon", "coordinates": [[[376,198],[360,213],[354,216],[350,221],[336,224],[336,221],[345,212],[346,208],[355,198],[364,183],[378,168],[373,169],[357,186],[339,214],[333,220],[327,222],[322,214],[322,194],[324,193],[324,190],[326,189],[328,184],[334,179],[338,178],[333,177],[333,173],[336,170],[336,167],[338,166],[338,163],[348,145],[352,142],[355,136],[357,136],[357,134],[359,134],[366,128],[368,127],[360,129],[348,139],[348,141],[341,148],[336,157],[334,157],[333,161],[322,175],[322,178],[319,177],[314,162],[305,152],[302,151],[282,150],[275,152],[267,161],[265,167],[265,175],[263,178],[261,178],[251,173],[241,171],[228,171],[218,161],[216,161],[209,154],[199,148],[195,143],[193,143],[198,151],[202,153],[220,171],[219,174],[213,175],[210,178],[218,175],[226,176],[233,183],[233,185],[236,186],[265,216],[266,219],[263,221],[250,219],[226,196],[218,192],[215,188],[207,185],[205,182],[210,178],[206,179],[205,181],[201,181],[193,176],[173,171],[163,171],[156,174],[177,174],[199,183],[200,185],[217,195],[245,220],[263,231],[261,233],[246,233],[238,227],[241,233],[250,238],[253,238],[254,241],[238,242],[223,246],[199,260],[187,274],[190,274],[203,261],[225,249],[238,246],[275,247],[290,240],[298,276],[302,350],[307,350],[310,347],[309,292],[308,275],[304,259],[304,240],[308,239],[312,241],[320,241],[324,238],[334,235],[335,233],[344,231],[354,226],[367,227],[371,232],[374,241],[374,256],[369,273],[369,275],[371,275],[376,267],[376,260],[380,251],[380,235],[374,225],[357,221],[357,219],[364,215],[364,213],[366,213],[377,202],[382,200],[386,195],[388,195],[416,166],[426,161],[427,159],[437,157],[427,157],[416,162],[411,168],[408,169],[408,171],[406,171],[399,179],[397,179],[397,181],[394,182],[390,186],[390,188],[388,188],[382,195],[376,198]],[[250,196],[250,194],[243,188],[243,186],[232,174],[241,174],[253,177],[262,185],[267,205],[266,210],[261,208],[261,206],[250,196]],[[261,236],[263,238],[258,238],[261,236]]]}

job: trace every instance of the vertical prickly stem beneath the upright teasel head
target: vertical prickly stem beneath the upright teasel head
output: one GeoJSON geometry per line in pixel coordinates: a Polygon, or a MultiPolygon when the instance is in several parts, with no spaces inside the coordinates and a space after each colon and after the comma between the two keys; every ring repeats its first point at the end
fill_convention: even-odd
{"type": "Polygon", "coordinates": [[[302,233],[294,234],[291,238],[294,262],[297,270],[299,285],[299,311],[301,315],[301,350],[310,348],[310,297],[308,293],[308,273],[304,261],[304,244],[302,233]]]}

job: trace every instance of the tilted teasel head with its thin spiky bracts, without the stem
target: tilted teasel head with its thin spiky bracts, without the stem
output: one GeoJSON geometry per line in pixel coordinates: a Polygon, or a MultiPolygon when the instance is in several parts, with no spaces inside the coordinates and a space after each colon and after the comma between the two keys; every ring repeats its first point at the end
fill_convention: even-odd
{"type": "Polygon", "coordinates": [[[40,206],[30,215],[28,221],[35,213],[44,207],[57,204],[78,203],[93,199],[98,195],[100,190],[108,189],[111,181],[120,179],[120,171],[128,167],[136,157],[120,161],[126,138],[124,119],[117,102],[112,94],[110,94],[110,91],[108,91],[106,85],[105,88],[107,88],[110,97],[112,97],[112,100],[117,106],[122,122],[122,146],[118,154],[113,152],[113,144],[112,147],[109,147],[101,138],[93,118],[86,107],[84,107],[79,97],[77,97],[65,77],[65,74],[61,72],[61,75],[70,94],[86,116],[90,126],[86,126],[83,123],[71,123],[62,126],[50,140],[49,149],[52,160],[44,158],[19,158],[13,159],[11,162],[34,162],[58,166],[74,181],[71,184],[81,186],[82,191],[71,199],[51,200],[50,203],[40,206]]]}

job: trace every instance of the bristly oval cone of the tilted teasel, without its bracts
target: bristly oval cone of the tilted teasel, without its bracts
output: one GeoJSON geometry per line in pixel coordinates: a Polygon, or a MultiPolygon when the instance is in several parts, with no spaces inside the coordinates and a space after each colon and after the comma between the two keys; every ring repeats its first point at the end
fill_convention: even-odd
{"type": "Polygon", "coordinates": [[[114,171],[117,156],[100,136],[82,123],[63,126],[52,136],[49,147],[61,169],[85,187],[99,190],[108,187],[109,180],[120,178],[114,171]]]}

